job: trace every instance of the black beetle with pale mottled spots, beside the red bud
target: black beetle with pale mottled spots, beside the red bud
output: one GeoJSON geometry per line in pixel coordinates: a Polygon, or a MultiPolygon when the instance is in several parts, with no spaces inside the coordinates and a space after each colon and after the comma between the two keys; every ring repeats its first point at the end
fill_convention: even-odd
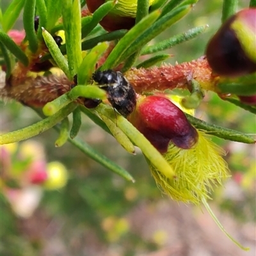
{"type": "Polygon", "coordinates": [[[97,71],[92,78],[100,88],[108,92],[109,102],[121,115],[132,113],[136,107],[136,93],[121,72],[97,71]]]}

